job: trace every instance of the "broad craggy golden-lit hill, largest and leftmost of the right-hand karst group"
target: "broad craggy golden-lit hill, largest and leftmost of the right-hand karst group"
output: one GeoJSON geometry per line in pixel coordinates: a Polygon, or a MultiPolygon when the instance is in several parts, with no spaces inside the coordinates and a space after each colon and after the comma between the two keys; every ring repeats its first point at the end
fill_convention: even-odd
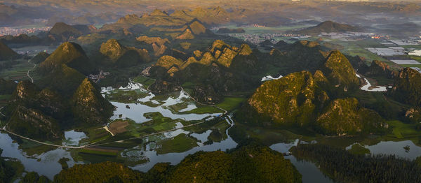
{"type": "Polygon", "coordinates": [[[302,71],[263,83],[247,103],[251,110],[276,124],[305,126],[314,121],[328,100],[312,73],[302,71]]]}

